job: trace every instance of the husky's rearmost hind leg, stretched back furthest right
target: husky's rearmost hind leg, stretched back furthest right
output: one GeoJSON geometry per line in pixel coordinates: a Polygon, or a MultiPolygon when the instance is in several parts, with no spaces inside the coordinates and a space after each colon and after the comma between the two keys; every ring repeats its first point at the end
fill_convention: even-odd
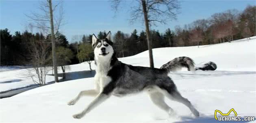
{"type": "Polygon", "coordinates": [[[189,102],[187,98],[182,97],[176,89],[173,92],[171,92],[171,94],[168,94],[167,97],[170,98],[171,100],[180,102],[185,106],[189,107],[193,115],[195,115],[195,117],[199,117],[199,112],[194,108],[191,102],[189,102]]]}

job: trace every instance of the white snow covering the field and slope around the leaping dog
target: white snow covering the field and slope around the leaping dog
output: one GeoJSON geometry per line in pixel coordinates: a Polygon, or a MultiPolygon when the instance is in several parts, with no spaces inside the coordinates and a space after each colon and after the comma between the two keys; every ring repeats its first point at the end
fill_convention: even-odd
{"type": "MultiPolygon", "coordinates": [[[[189,56],[195,63],[213,61],[217,64],[216,71],[196,71],[195,74],[179,71],[169,74],[182,96],[188,98],[200,112],[200,118],[195,119],[186,106],[166,99],[167,104],[180,116],[180,119],[171,119],[154,106],[143,92],[123,98],[112,96],[82,119],[73,119],[72,115],[80,113],[93,100],[93,97],[83,97],[76,105],[67,105],[81,90],[93,88],[93,78],[85,78],[54,83],[0,99],[0,122],[216,123],[219,121],[214,118],[215,110],[227,113],[231,108],[240,117],[256,116],[256,37],[249,41],[243,39],[200,48],[156,48],[153,49],[153,55],[155,67],[158,68],[179,56],[189,56]]],[[[147,51],[119,60],[134,66],[149,66],[147,51]]],[[[82,63],[70,65],[68,72],[85,70],[89,70],[89,65],[82,63]]],[[[20,79],[17,73],[11,71],[0,74],[1,81],[2,76],[6,80],[11,77],[20,79]]]]}

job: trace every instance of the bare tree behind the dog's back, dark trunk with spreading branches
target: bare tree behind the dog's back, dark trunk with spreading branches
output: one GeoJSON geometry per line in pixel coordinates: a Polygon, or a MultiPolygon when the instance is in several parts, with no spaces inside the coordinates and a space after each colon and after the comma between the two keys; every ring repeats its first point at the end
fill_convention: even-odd
{"type": "MultiPolygon", "coordinates": [[[[150,57],[150,67],[154,68],[152,54],[152,40],[150,39],[150,26],[156,23],[167,24],[168,20],[176,19],[180,3],[178,0],[136,0],[136,6],[132,7],[130,13],[130,22],[143,20],[145,23],[146,36],[148,41],[148,50],[150,57]]],[[[112,8],[115,12],[120,5],[121,0],[113,0],[112,8]]]]}

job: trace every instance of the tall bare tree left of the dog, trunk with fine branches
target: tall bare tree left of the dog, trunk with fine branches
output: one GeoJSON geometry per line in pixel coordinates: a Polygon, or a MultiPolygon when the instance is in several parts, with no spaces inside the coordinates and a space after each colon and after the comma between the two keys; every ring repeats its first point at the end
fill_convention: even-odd
{"type": "Polygon", "coordinates": [[[42,1],[39,5],[39,13],[31,13],[26,15],[30,20],[28,25],[30,27],[36,27],[39,31],[51,35],[52,41],[52,63],[54,67],[55,82],[59,82],[58,71],[57,71],[57,60],[56,60],[56,49],[55,49],[55,35],[58,32],[61,25],[63,25],[63,6],[62,1],[57,1],[52,6],[52,0],[42,1]],[[57,8],[59,11],[57,12],[57,8]],[[56,14],[54,16],[54,14],[56,14]]]}

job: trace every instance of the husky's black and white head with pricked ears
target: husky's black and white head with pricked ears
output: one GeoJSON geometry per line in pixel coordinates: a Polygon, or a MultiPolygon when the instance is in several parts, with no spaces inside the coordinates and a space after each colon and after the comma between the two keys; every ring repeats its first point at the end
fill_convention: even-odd
{"type": "Polygon", "coordinates": [[[104,39],[98,39],[94,34],[92,35],[92,46],[94,49],[94,55],[96,58],[108,58],[113,55],[113,41],[111,38],[111,32],[104,39]]]}

